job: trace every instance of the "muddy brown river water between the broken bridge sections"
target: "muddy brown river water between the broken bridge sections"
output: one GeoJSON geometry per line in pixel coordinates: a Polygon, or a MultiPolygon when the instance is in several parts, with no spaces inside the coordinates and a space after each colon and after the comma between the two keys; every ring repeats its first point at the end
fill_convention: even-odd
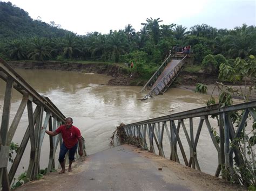
{"type": "MultiPolygon", "coordinates": [[[[137,99],[143,98],[145,95],[139,93],[142,87],[100,85],[106,84],[112,78],[106,75],[30,69],[16,69],[16,72],[39,94],[49,97],[66,117],[73,118],[73,125],[80,129],[82,136],[85,138],[87,154],[110,148],[112,132],[122,122],[129,124],[204,107],[209,98],[209,95],[200,95],[192,91],[171,88],[164,95],[159,95],[147,101],[139,101],[137,99]]],[[[2,116],[4,86],[5,83],[0,79],[0,116],[2,116]]],[[[15,91],[12,95],[11,119],[14,118],[20,102],[21,95],[15,91]]],[[[28,126],[26,114],[25,109],[24,116],[13,139],[15,143],[21,143],[28,126]]],[[[188,122],[186,123],[188,124],[188,122]]],[[[198,123],[195,122],[194,124],[196,128],[194,135],[196,135],[198,123]]],[[[188,127],[187,125],[189,133],[188,127]]],[[[184,141],[185,151],[189,159],[186,138],[182,135],[180,137],[184,141]]],[[[45,135],[44,142],[41,164],[47,166],[49,159],[48,135],[45,135]]],[[[169,140],[165,137],[164,144],[167,143],[169,143],[169,140]]],[[[170,144],[164,146],[164,151],[166,158],[170,158],[170,144]]],[[[218,164],[218,156],[205,125],[201,131],[197,151],[201,169],[206,173],[214,174],[218,164]]],[[[26,149],[22,160],[25,169],[29,161],[29,153],[29,149],[26,149]]]]}

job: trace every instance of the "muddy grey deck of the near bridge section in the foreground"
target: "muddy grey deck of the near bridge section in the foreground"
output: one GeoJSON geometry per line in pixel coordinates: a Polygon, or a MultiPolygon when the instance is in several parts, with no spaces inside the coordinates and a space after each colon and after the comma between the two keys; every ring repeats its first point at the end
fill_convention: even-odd
{"type": "Polygon", "coordinates": [[[122,145],[89,155],[73,171],[50,173],[17,190],[230,190],[240,186],[139,148],[122,145]],[[159,169],[161,168],[161,169],[159,169]]]}

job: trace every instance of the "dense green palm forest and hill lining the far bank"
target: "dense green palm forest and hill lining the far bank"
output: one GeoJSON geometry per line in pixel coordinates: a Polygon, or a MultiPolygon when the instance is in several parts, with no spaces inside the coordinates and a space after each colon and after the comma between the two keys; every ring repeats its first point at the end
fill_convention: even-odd
{"type": "MultiPolygon", "coordinates": [[[[143,22],[143,21],[142,21],[143,22]]],[[[127,24],[123,30],[79,36],[54,22],[33,20],[28,12],[0,2],[0,56],[5,60],[97,60],[134,62],[138,72],[156,68],[176,47],[191,46],[194,63],[218,69],[220,62],[256,55],[254,26],[216,29],[207,24],[187,29],[179,24],[161,25],[147,18],[142,29],[127,24]],[[206,58],[205,58],[206,57],[206,58]]]]}

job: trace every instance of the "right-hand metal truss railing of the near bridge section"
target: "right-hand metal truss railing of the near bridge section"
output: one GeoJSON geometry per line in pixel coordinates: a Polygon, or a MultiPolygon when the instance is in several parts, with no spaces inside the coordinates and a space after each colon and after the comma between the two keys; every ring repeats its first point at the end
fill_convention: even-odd
{"type": "MultiPolygon", "coordinates": [[[[221,108],[218,104],[215,104],[211,105],[210,107],[188,110],[184,112],[179,112],[177,114],[127,124],[123,127],[126,135],[129,137],[130,140],[132,140],[133,143],[139,143],[139,145],[141,145],[144,149],[149,150],[153,153],[156,153],[155,148],[158,148],[159,155],[163,157],[165,157],[163,137],[164,135],[167,135],[171,147],[170,159],[180,162],[180,158],[178,157],[179,146],[179,153],[181,153],[182,155],[184,164],[189,167],[192,166],[192,168],[196,168],[199,171],[201,171],[201,168],[198,161],[197,145],[199,142],[200,132],[202,128],[206,128],[208,134],[211,137],[211,142],[214,144],[214,147],[218,154],[218,166],[215,171],[215,176],[218,177],[221,171],[222,176],[225,174],[224,171],[226,170],[233,173],[234,162],[235,164],[238,164],[238,167],[242,167],[242,165],[244,165],[246,159],[241,157],[242,154],[239,145],[237,144],[235,146],[232,146],[233,143],[231,144],[231,142],[232,140],[240,138],[241,132],[245,128],[246,124],[248,124],[249,120],[252,120],[251,123],[255,123],[255,110],[256,101],[232,105],[230,107],[224,108],[221,108]],[[235,128],[235,125],[232,123],[230,117],[231,113],[234,111],[242,113],[241,122],[235,128]],[[218,119],[215,118],[210,120],[209,118],[212,115],[218,116],[218,119]],[[196,118],[197,120],[195,120],[196,118]],[[198,118],[200,118],[199,122],[198,118]],[[187,131],[185,119],[189,119],[189,122],[187,124],[190,132],[187,131]],[[213,124],[214,120],[215,124],[213,124]],[[198,123],[197,129],[195,128],[196,121],[198,123]],[[217,123],[219,124],[219,140],[215,137],[213,131],[213,127],[215,128],[217,123]],[[181,135],[180,133],[181,128],[183,129],[182,132],[184,135],[181,135]],[[196,131],[196,136],[194,136],[194,131],[196,131]],[[185,141],[181,141],[181,136],[185,137],[185,141]],[[186,152],[184,150],[183,145],[185,144],[189,147],[189,156],[186,155],[186,152]],[[156,147],[154,145],[156,145],[156,147]]],[[[205,145],[207,144],[209,143],[205,143],[205,145]]],[[[201,157],[206,156],[204,155],[201,157]]]]}

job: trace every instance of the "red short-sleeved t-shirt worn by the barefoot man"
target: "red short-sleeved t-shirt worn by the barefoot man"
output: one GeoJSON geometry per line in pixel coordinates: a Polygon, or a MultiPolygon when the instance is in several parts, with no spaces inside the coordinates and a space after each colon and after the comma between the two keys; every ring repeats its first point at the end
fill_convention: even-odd
{"type": "Polygon", "coordinates": [[[77,139],[81,138],[81,133],[78,128],[71,126],[70,129],[66,128],[66,125],[59,126],[56,132],[62,133],[62,138],[67,148],[72,148],[77,144],[77,139]]]}

